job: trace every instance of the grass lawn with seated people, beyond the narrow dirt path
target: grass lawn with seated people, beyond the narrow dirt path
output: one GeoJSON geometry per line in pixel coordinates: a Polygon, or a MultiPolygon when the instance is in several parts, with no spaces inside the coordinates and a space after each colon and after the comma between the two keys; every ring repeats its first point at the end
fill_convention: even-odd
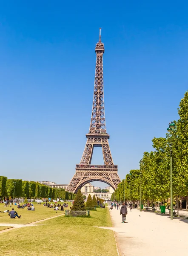
{"type": "MultiPolygon", "coordinates": [[[[69,207],[70,206],[71,205],[69,204],[69,207]]],[[[64,209],[69,209],[69,207],[64,209]]],[[[56,212],[54,211],[54,208],[45,207],[43,206],[43,204],[34,203],[34,208],[35,211],[28,211],[27,207],[25,207],[24,209],[17,209],[16,205],[14,205],[13,207],[4,207],[4,204],[0,204],[0,211],[2,211],[0,212],[0,223],[26,224],[65,213],[65,210],[56,212]],[[7,209],[11,211],[12,208],[14,208],[18,215],[21,215],[20,219],[17,217],[15,219],[11,219],[8,212],[3,212],[7,209]]]]}

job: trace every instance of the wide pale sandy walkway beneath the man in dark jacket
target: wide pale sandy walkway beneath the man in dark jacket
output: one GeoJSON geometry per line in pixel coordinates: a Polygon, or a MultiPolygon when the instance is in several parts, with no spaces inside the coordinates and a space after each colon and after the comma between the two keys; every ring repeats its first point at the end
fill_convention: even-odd
{"type": "Polygon", "coordinates": [[[188,220],[170,220],[154,212],[129,211],[122,223],[120,210],[109,210],[122,256],[188,255],[188,220]]]}

